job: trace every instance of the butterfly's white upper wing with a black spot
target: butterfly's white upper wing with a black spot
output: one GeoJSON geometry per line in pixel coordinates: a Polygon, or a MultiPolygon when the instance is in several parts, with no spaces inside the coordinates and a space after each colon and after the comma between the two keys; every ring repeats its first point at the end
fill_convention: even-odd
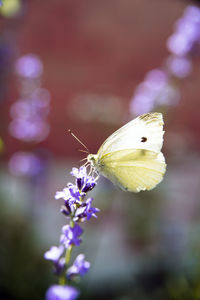
{"type": "Polygon", "coordinates": [[[124,149],[144,149],[159,153],[163,144],[163,117],[148,113],[130,121],[115,131],[100,147],[99,158],[124,149]]]}

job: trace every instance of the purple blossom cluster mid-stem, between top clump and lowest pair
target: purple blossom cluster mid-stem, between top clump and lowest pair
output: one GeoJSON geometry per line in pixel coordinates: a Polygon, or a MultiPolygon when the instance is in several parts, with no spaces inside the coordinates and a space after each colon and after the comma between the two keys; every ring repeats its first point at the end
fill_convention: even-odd
{"type": "Polygon", "coordinates": [[[81,239],[79,236],[83,233],[83,229],[79,225],[75,224],[74,227],[65,225],[62,228],[62,233],[60,242],[64,244],[65,248],[68,248],[70,245],[80,245],[81,239]]]}

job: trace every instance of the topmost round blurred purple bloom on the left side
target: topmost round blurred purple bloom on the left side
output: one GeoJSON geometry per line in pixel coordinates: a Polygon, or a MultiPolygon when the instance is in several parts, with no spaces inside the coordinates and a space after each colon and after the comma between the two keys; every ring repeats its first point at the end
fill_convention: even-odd
{"type": "Polygon", "coordinates": [[[26,54],[17,59],[15,69],[19,76],[35,79],[41,76],[43,65],[37,55],[26,54]]]}

